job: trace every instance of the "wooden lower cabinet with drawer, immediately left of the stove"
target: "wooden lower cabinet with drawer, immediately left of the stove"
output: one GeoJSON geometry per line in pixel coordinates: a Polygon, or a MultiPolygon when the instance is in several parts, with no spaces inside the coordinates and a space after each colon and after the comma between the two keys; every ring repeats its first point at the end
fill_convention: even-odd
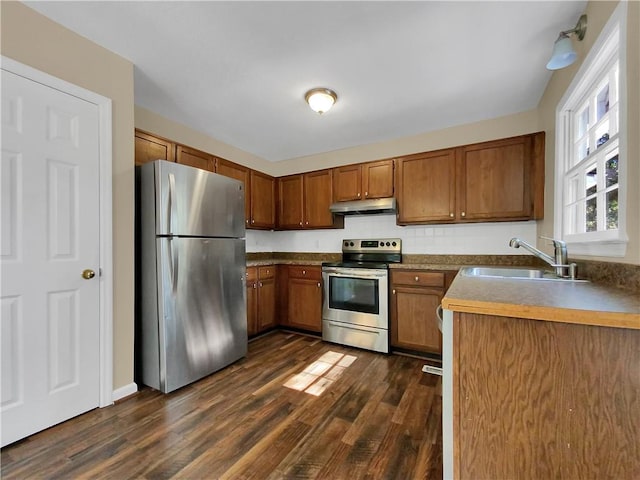
{"type": "Polygon", "coordinates": [[[322,269],[289,265],[286,325],[322,332],[322,269]]]}

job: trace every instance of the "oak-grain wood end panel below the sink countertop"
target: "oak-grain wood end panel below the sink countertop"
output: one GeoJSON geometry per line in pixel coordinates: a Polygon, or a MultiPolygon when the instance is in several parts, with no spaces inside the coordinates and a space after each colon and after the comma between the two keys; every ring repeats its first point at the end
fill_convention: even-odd
{"type": "Polygon", "coordinates": [[[454,313],[454,477],[640,478],[640,330],[454,313]]]}

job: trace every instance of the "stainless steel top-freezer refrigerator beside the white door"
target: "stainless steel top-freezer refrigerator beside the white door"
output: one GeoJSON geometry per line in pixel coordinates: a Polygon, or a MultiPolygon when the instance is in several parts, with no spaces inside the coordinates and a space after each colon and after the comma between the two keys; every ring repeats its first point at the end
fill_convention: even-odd
{"type": "Polygon", "coordinates": [[[139,190],[138,380],[168,393],[247,353],[244,186],[157,160],[139,190]]]}

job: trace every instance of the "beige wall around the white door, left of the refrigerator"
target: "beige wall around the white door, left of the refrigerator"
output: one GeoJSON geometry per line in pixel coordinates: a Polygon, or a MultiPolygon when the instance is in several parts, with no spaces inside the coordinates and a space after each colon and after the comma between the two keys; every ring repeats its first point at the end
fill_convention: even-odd
{"type": "Polygon", "coordinates": [[[1,53],[113,101],[113,387],[133,382],[133,65],[18,2],[0,5],[1,53]]]}

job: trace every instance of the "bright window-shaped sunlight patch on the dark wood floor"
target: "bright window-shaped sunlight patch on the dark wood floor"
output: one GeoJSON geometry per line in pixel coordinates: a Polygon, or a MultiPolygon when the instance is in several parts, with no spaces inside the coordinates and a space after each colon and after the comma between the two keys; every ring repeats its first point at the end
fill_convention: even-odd
{"type": "Polygon", "coordinates": [[[302,372],[289,378],[283,385],[316,397],[320,396],[357,358],[354,355],[329,351],[302,372]]]}

